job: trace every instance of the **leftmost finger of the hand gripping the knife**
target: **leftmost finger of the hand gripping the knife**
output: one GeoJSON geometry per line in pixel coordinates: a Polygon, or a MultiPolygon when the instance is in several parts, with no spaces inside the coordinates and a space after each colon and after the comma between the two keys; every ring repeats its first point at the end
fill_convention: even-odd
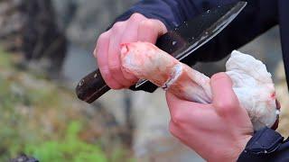
{"type": "Polygon", "coordinates": [[[111,76],[107,65],[109,37],[109,31],[104,32],[99,36],[97,47],[94,50],[93,54],[94,57],[97,58],[98,68],[106,84],[112,89],[119,89],[122,85],[118,84],[117,81],[111,76]]]}

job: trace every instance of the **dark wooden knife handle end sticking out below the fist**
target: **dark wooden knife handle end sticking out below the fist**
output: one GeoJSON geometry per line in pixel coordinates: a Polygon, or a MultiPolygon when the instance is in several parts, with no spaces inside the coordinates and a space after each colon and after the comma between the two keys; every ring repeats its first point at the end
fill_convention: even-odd
{"type": "Polygon", "coordinates": [[[76,87],[76,94],[80,100],[87,103],[93,103],[109,90],[110,87],[106,84],[97,68],[79,81],[79,84],[76,87]]]}

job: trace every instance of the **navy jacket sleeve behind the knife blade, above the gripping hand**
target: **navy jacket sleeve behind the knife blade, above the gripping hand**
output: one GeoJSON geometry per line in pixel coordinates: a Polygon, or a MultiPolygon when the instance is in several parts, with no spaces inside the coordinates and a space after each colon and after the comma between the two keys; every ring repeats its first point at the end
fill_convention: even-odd
{"type": "MultiPolygon", "coordinates": [[[[126,20],[131,14],[140,13],[148,18],[162,21],[170,30],[192,19],[194,16],[219,5],[236,0],[142,0],[131,7],[117,21],[126,20]]],[[[247,7],[224,31],[210,40],[185,60],[192,65],[195,61],[214,61],[227,56],[259,34],[277,24],[277,1],[250,0],[247,7]]]]}

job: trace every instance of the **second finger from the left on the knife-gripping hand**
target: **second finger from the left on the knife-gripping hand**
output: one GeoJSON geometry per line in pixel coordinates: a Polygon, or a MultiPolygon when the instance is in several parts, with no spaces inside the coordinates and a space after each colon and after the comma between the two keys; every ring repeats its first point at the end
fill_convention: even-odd
{"type": "Polygon", "coordinates": [[[112,37],[109,41],[108,49],[108,68],[112,77],[123,87],[128,87],[132,83],[123,76],[120,61],[120,39],[123,31],[126,29],[126,23],[116,23],[112,28],[112,37]]]}

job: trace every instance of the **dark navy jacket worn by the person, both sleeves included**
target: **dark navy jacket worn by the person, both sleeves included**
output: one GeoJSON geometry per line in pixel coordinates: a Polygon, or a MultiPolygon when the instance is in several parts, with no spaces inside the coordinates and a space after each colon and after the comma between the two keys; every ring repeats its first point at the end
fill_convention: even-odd
{"type": "MultiPolygon", "coordinates": [[[[162,21],[170,30],[212,7],[236,2],[234,0],[142,0],[117,21],[126,20],[131,14],[140,13],[162,21]]],[[[231,50],[253,40],[276,24],[280,24],[282,49],[287,82],[289,79],[289,1],[249,0],[247,7],[217,37],[194,52],[185,63],[212,61],[227,56],[231,50]]],[[[238,161],[289,161],[289,139],[268,128],[259,130],[248,142],[238,161]]]]}

